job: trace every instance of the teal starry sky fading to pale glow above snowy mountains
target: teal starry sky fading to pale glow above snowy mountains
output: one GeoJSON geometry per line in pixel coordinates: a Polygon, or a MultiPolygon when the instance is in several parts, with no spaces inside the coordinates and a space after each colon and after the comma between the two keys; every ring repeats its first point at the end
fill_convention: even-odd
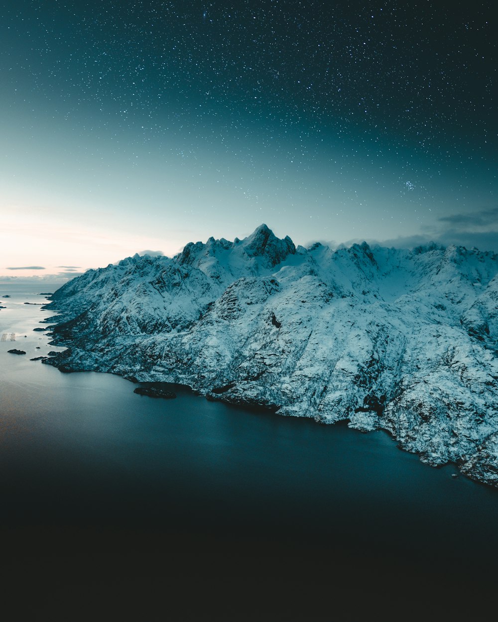
{"type": "Polygon", "coordinates": [[[265,222],[498,252],[491,2],[0,2],[0,275],[265,222]]]}

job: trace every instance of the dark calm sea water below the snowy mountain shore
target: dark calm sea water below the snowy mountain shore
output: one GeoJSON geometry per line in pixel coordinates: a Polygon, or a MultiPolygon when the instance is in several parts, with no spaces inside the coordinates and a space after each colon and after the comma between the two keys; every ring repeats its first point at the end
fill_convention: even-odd
{"type": "Polygon", "coordinates": [[[30,361],[53,290],[0,286],[9,620],[455,620],[493,592],[498,490],[384,432],[30,361]]]}

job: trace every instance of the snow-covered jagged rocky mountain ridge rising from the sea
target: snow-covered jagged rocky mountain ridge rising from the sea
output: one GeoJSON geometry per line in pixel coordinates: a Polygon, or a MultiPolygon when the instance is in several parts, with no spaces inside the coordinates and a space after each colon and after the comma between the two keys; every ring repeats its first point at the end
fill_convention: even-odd
{"type": "Polygon", "coordinates": [[[44,361],[323,423],[388,430],[498,486],[498,256],[248,238],[124,259],[63,285],[44,361]]]}

